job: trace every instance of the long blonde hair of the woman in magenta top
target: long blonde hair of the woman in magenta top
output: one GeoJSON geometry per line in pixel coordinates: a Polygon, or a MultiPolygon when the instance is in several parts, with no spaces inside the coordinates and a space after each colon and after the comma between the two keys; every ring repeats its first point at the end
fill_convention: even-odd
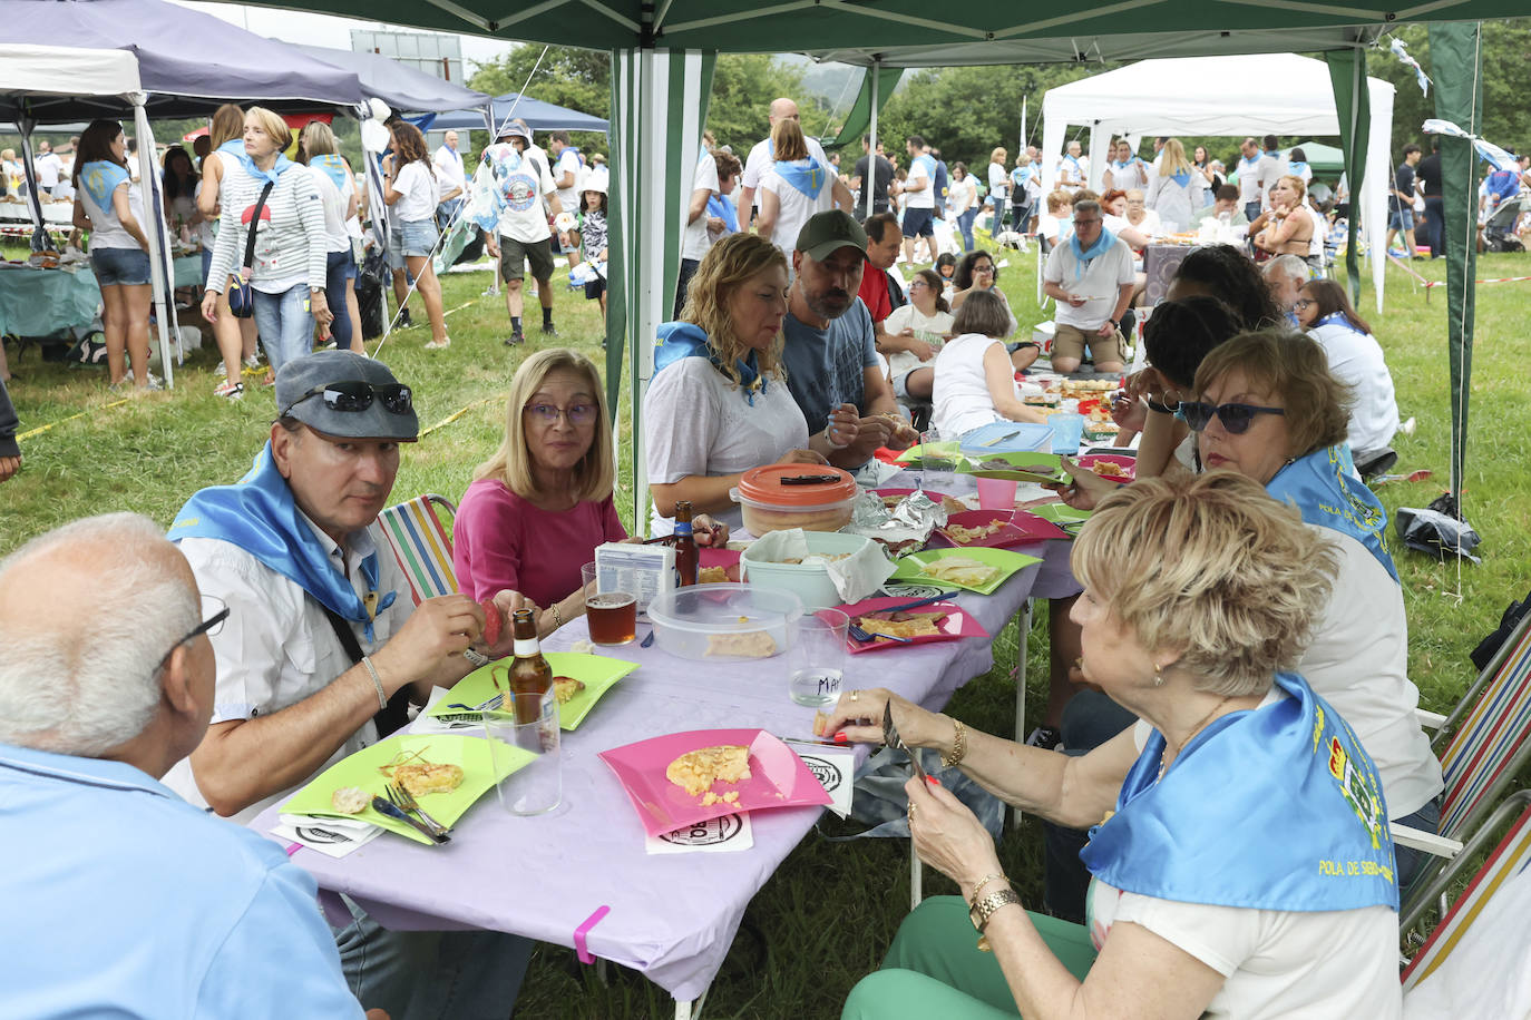
{"type": "Polygon", "coordinates": [[[602,385],[596,362],[568,347],[539,350],[516,369],[516,376],[510,381],[510,393],[505,398],[505,437],[501,440],[499,450],[473,469],[475,482],[495,479],[524,499],[550,495],[537,488],[537,477],[531,471],[531,450],[527,447],[524,411],[527,401],[542,388],[550,375],[559,370],[582,376],[583,382],[589,385],[596,407],[600,408],[596,421],[596,437],[580,462],[574,465],[573,495],[580,502],[603,500],[611,495],[617,466],[611,447],[611,416],[606,413],[606,387],[602,385]]]}

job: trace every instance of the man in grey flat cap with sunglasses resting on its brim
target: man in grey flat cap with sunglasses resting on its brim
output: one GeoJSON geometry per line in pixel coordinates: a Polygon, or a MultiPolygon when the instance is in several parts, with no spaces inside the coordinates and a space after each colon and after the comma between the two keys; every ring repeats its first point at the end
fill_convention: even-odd
{"type": "MultiPolygon", "coordinates": [[[[271,439],[250,473],[193,495],[168,534],[230,616],[211,638],[207,736],[165,784],[236,821],[375,743],[374,714],[395,693],[423,703],[433,685],[467,674],[462,651],[484,627],[464,595],[416,607],[375,525],[400,443],[419,428],[409,387],[378,361],[326,350],[282,365],[276,398],[271,439]]],[[[346,904],[352,922],[334,934],[369,1006],[395,1018],[508,1011],[530,942],[387,931],[346,904]]]]}

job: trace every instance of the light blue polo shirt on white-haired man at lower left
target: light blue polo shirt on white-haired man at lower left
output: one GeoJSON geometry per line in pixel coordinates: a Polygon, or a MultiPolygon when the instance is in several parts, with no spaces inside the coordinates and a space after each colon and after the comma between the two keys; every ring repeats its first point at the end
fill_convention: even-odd
{"type": "Polygon", "coordinates": [[[0,743],[0,1018],[361,1017],[282,849],[121,762],[0,743]]]}

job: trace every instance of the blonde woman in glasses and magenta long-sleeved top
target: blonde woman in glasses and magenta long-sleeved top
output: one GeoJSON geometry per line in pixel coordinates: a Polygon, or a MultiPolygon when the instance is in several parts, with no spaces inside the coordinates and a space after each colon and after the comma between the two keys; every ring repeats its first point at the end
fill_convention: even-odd
{"type": "MultiPolygon", "coordinates": [[[[510,381],[505,437],[452,521],[458,589],[475,599],[517,593],[550,635],[585,612],[580,567],[596,546],[626,541],[612,502],[615,456],[605,387],[594,362],[557,347],[521,362],[510,381]]],[[[694,521],[697,544],[721,544],[726,528],[694,521]]]]}

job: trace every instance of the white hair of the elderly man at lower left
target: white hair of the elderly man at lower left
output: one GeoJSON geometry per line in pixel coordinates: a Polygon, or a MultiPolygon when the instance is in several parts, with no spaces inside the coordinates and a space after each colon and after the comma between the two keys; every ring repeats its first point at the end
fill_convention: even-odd
{"type": "Polygon", "coordinates": [[[153,720],[159,668],[196,629],[201,603],[171,569],[164,529],[139,514],[87,517],[34,538],[0,560],[0,589],[26,561],[70,547],[90,558],[92,603],[60,607],[57,627],[0,618],[0,742],[98,757],[153,720]]]}

